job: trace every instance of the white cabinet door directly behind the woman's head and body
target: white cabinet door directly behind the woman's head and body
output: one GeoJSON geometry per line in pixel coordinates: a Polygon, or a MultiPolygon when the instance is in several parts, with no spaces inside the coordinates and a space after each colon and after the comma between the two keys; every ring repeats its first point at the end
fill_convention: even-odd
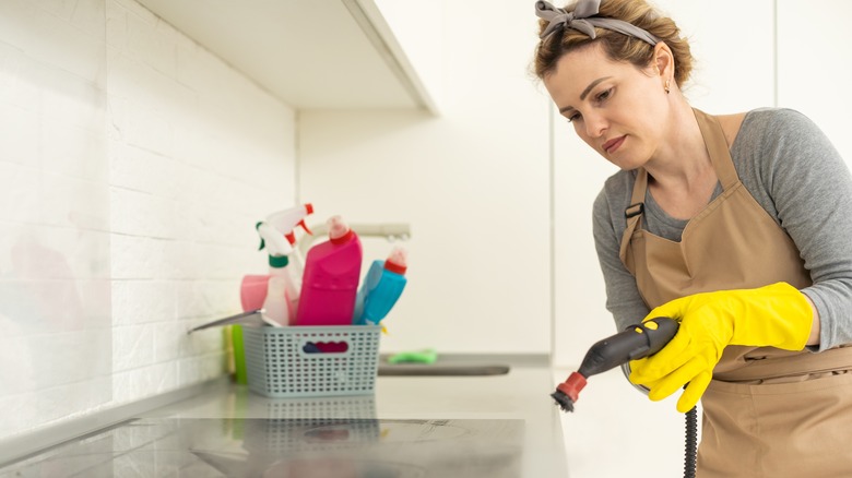
{"type": "MultiPolygon", "coordinates": [[[[656,2],[690,40],[696,61],[685,94],[693,106],[710,113],[727,113],[773,105],[772,3],[771,0],[656,2]]],[[[604,180],[616,169],[580,141],[558,112],[553,115],[554,361],[576,366],[594,342],[615,331],[612,315],[605,309],[591,210],[604,180]]]]}

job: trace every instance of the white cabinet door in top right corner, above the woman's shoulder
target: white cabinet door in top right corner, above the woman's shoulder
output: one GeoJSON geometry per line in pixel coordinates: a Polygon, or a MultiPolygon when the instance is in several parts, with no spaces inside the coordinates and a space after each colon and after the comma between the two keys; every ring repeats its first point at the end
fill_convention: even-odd
{"type": "Polygon", "coordinates": [[[778,106],[814,120],[852,166],[848,0],[778,0],[778,106]]]}

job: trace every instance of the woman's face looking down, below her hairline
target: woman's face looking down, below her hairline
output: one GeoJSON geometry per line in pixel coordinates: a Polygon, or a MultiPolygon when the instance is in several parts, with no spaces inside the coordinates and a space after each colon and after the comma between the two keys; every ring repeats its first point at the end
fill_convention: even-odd
{"type": "Polygon", "coordinates": [[[614,165],[635,169],[658,154],[668,107],[653,68],[615,62],[592,44],[560,58],[544,85],[577,134],[614,165]]]}

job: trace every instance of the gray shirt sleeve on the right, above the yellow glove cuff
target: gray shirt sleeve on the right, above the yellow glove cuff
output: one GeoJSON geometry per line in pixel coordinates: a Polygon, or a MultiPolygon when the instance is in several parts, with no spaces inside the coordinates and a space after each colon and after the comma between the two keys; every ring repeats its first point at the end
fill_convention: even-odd
{"type": "MultiPolygon", "coordinates": [[[[826,350],[852,343],[852,175],[819,128],[789,109],[753,112],[738,152],[750,191],[790,235],[810,273],[802,290],[820,319],[826,350]],[[756,165],[748,170],[748,165],[756,165]],[[750,181],[749,181],[750,182],[750,181]]],[[[739,143],[737,135],[736,143],[739,143]]],[[[745,183],[744,179],[744,183],[745,183]]],[[[817,349],[816,347],[814,349],[817,349]]]]}

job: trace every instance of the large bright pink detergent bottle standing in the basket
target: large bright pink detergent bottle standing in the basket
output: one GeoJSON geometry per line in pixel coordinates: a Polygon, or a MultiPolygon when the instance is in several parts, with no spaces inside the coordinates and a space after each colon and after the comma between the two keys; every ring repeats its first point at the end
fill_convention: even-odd
{"type": "Polygon", "coordinates": [[[363,250],[340,216],[328,220],[329,240],[305,258],[296,325],[352,325],[363,250]]]}

